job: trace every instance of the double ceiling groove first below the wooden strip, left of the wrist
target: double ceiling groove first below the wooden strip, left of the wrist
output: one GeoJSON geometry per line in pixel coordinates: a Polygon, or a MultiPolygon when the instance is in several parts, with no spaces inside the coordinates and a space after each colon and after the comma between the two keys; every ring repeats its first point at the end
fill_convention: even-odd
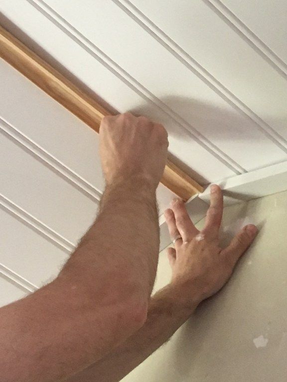
{"type": "Polygon", "coordinates": [[[48,153],[45,149],[32,141],[29,137],[19,131],[16,127],[12,126],[4,118],[0,117],[0,132],[6,135],[10,140],[17,142],[21,147],[28,150],[38,161],[44,164],[61,178],[67,180],[77,190],[84,193],[92,200],[99,201],[101,199],[101,192],[91,185],[88,181],[75,173],[68,166],[60,162],[53,155],[48,153]]]}

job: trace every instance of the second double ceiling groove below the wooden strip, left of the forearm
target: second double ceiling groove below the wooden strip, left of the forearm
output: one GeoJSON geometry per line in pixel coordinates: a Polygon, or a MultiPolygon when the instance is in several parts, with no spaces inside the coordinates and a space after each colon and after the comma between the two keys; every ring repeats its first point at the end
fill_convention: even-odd
{"type": "Polygon", "coordinates": [[[13,201],[0,193],[0,207],[9,212],[13,217],[32,228],[35,232],[45,237],[57,247],[64,250],[66,253],[71,253],[75,250],[76,245],[64,238],[58,232],[44,224],[39,219],[35,218],[29,212],[19,207],[13,201]]]}

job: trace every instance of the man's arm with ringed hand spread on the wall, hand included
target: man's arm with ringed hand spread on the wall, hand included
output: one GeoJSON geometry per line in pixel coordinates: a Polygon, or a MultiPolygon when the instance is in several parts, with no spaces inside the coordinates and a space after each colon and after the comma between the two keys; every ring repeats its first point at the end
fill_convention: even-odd
{"type": "Polygon", "coordinates": [[[218,239],[222,212],[222,192],[213,186],[205,227],[199,232],[184,204],[175,200],[165,217],[171,238],[180,234],[183,240],[175,242],[175,249],[168,249],[172,269],[170,284],[150,299],[147,320],[138,332],[68,382],[120,381],[165,343],[202,300],[227,283],[239,258],[256,237],[257,228],[244,227],[230,245],[222,249],[218,239]]]}

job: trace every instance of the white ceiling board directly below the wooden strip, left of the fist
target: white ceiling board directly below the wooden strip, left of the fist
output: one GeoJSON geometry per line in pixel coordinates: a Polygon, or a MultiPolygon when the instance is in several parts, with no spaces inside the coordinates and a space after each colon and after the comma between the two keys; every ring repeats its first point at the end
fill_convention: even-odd
{"type": "Polygon", "coordinates": [[[0,116],[63,163],[66,171],[83,178],[84,186],[93,186],[95,194],[103,191],[98,134],[2,59],[0,75],[0,116]]]}

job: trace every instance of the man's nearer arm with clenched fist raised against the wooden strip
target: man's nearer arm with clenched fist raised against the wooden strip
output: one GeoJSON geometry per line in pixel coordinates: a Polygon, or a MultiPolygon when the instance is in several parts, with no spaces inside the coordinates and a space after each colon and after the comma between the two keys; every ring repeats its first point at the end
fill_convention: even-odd
{"type": "Polygon", "coordinates": [[[167,134],[131,114],[105,118],[96,222],[55,281],[0,309],[0,381],[57,382],[144,323],[158,257],[155,190],[167,134]]]}

